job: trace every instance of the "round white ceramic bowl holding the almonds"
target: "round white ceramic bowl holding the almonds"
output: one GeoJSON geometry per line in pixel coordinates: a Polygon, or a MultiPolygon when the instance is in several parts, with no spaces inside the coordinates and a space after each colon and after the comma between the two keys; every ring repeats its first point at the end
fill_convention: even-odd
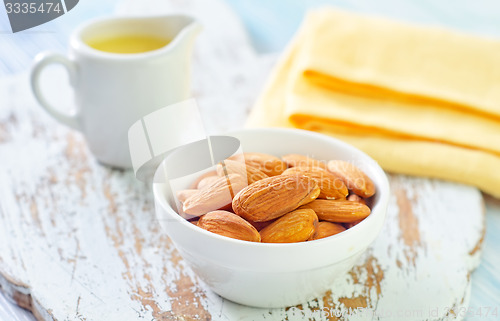
{"type": "Polygon", "coordinates": [[[182,257],[216,293],[256,307],[285,307],[323,295],[379,234],[389,199],[389,183],[377,163],[339,140],[303,130],[244,129],[227,134],[238,138],[244,152],[276,156],[290,153],[317,159],[354,162],[373,180],[377,193],[372,212],[340,234],[302,243],[253,243],[223,237],[181,218],[168,184],[155,184],[156,211],[182,257]]]}

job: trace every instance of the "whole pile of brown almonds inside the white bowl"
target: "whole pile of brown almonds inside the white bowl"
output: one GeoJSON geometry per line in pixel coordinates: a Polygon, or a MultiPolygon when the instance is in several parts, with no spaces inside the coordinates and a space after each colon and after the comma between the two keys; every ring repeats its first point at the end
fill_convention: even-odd
{"type": "Polygon", "coordinates": [[[207,231],[251,242],[325,238],[358,224],[375,194],[351,163],[290,154],[244,153],[177,192],[180,215],[207,231]]]}

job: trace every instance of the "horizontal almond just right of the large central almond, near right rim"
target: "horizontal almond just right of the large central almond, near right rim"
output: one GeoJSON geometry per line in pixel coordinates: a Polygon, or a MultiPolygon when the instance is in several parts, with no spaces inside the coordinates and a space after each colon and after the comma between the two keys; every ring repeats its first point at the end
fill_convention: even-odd
{"type": "Polygon", "coordinates": [[[358,202],[347,200],[315,200],[301,208],[310,208],[322,221],[350,223],[370,215],[370,208],[358,202]]]}

